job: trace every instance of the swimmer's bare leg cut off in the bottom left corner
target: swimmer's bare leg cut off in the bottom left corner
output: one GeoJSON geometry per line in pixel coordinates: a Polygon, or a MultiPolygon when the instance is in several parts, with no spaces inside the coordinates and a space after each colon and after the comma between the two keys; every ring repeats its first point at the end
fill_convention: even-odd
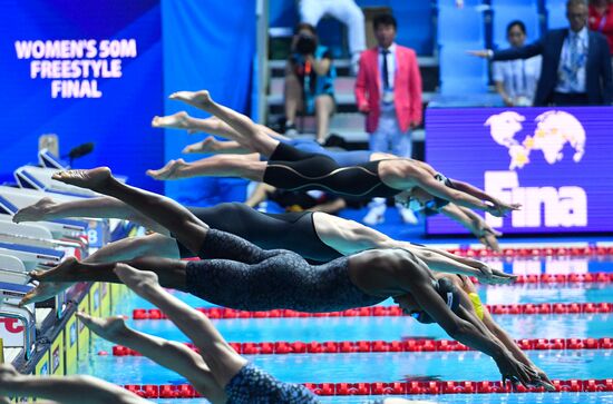
{"type": "Polygon", "coordinates": [[[81,404],[84,397],[88,404],[152,403],[97,377],[22,375],[9,364],[0,364],[0,395],[43,397],[62,404],[81,404]]]}

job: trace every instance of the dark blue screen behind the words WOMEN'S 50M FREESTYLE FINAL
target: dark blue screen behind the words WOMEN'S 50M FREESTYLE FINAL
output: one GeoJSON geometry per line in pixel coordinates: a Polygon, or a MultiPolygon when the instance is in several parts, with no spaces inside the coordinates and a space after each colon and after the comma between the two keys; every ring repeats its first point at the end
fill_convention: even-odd
{"type": "MultiPolygon", "coordinates": [[[[129,177],[130,184],[162,190],[145,176],[150,165],[162,161],[162,138],[153,136],[150,117],[162,109],[160,13],[157,0],[4,0],[7,18],[0,26],[0,108],[2,108],[2,159],[0,179],[36,161],[38,137],[59,136],[60,152],[86,141],[95,150],[75,162],[76,167],[109,165],[129,177]],[[31,78],[30,68],[42,59],[18,58],[16,41],[96,40],[97,56],[107,39],[135,39],[137,56],[118,58],[120,78],[96,79],[100,98],[52,97],[49,78],[31,78]]],[[[70,58],[87,60],[88,58],[70,58]]],[[[60,58],[47,58],[61,62],[60,58]]],[[[91,81],[93,77],[79,78],[91,81]]]]}

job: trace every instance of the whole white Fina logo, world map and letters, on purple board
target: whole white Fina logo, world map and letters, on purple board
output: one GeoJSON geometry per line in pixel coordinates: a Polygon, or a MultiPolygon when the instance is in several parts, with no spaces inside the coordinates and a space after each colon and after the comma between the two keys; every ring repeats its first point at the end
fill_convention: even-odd
{"type": "MultiPolygon", "coordinates": [[[[485,121],[484,126],[489,127],[494,141],[506,147],[510,158],[508,171],[485,171],[486,193],[522,204],[520,210],[512,213],[512,226],[515,228],[587,226],[587,195],[583,188],[522,187],[516,171],[531,162],[533,150],[539,150],[548,165],[555,165],[564,158],[566,145],[574,149],[573,161],[578,164],[585,154],[583,125],[568,112],[546,111],[536,117],[534,134],[519,142],[515,137],[522,131],[525,119],[515,111],[505,111],[485,121]]],[[[486,215],[486,220],[493,227],[503,227],[502,217],[486,215]]]]}

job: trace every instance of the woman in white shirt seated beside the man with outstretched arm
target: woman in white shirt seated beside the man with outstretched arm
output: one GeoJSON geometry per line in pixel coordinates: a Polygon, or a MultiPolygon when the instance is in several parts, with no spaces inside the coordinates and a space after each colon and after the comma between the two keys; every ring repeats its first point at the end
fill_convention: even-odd
{"type": "MultiPolygon", "coordinates": [[[[507,26],[507,40],[513,48],[520,48],[526,41],[526,26],[515,20],[507,26]]],[[[493,66],[496,91],[508,107],[532,106],[538,75],[541,73],[541,56],[529,59],[496,61],[493,66]]]]}

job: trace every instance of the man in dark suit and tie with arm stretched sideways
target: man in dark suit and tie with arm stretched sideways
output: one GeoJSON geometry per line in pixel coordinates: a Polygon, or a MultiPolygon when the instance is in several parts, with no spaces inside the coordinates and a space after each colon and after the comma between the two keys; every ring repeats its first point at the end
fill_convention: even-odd
{"type": "Polygon", "coordinates": [[[587,30],[585,0],[568,0],[566,18],[570,29],[551,30],[534,43],[469,53],[493,60],[528,59],[543,55],[535,106],[610,105],[613,83],[606,39],[600,32],[587,30]]]}

